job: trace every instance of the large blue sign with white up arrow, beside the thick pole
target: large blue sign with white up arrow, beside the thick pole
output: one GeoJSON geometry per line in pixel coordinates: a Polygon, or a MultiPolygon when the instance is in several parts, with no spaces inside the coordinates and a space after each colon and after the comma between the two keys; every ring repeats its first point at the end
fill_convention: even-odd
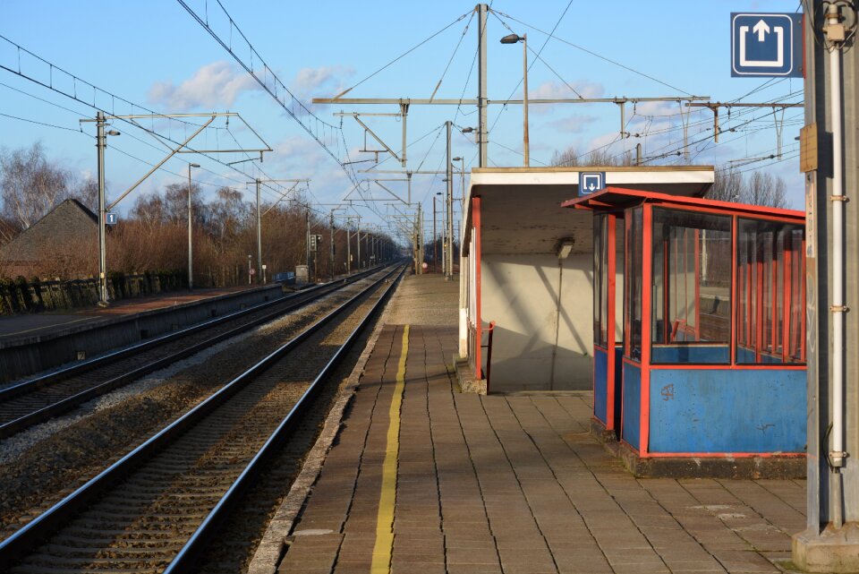
{"type": "Polygon", "coordinates": [[[803,77],[803,15],[731,13],[731,75],[803,77]]]}

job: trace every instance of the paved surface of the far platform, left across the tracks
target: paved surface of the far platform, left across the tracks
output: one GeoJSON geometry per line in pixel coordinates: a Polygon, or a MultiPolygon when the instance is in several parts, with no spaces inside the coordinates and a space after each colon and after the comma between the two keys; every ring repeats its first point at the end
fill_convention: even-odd
{"type": "MultiPolygon", "coordinates": [[[[252,287],[256,288],[256,287],[252,287]]],[[[134,315],[154,309],[193,303],[203,299],[230,295],[248,290],[249,287],[224,287],[217,289],[195,289],[194,291],[168,291],[154,296],[136,297],[115,301],[108,307],[87,307],[67,313],[22,313],[0,316],[0,341],[33,335],[47,335],[53,331],[86,325],[94,321],[109,320],[125,315],[134,315]]]]}

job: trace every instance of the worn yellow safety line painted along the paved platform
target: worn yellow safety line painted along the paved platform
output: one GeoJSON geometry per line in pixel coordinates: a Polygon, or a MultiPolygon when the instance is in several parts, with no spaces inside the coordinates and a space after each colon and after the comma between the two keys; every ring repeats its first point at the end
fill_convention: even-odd
{"type": "Polygon", "coordinates": [[[391,571],[391,553],[394,550],[394,504],[396,502],[396,461],[400,454],[400,407],[405,388],[405,357],[409,353],[409,326],[403,330],[403,349],[396,370],[394,396],[391,398],[390,423],[387,427],[385,462],[382,463],[382,489],[378,497],[376,518],[376,544],[373,545],[373,562],[370,574],[388,574],[391,571]]]}

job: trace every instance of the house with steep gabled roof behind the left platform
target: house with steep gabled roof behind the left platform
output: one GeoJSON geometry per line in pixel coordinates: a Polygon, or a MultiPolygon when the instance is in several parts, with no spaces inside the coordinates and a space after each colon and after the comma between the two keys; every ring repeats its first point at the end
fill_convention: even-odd
{"type": "Polygon", "coordinates": [[[97,267],[98,216],[75,199],[0,245],[0,276],[72,278],[96,273],[97,267]]]}

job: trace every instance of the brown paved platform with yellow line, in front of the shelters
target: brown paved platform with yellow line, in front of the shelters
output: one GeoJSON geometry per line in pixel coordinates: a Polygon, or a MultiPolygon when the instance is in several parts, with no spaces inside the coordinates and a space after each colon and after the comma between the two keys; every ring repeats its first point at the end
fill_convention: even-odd
{"type": "Polygon", "coordinates": [[[462,393],[457,289],[404,280],[251,574],[789,570],[803,481],[638,479],[589,434],[590,392],[462,393]]]}

